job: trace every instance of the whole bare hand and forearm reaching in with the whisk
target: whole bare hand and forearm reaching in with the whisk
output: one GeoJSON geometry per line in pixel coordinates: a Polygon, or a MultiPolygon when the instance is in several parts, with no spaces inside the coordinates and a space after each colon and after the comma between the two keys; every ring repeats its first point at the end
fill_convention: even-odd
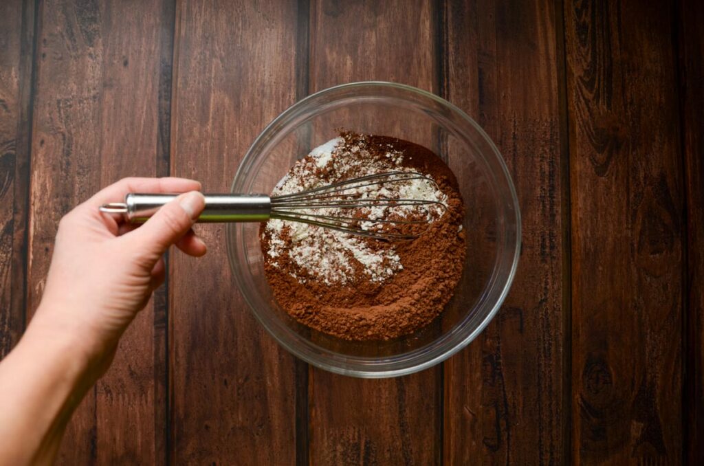
{"type": "Polygon", "coordinates": [[[71,413],[110,365],[118,340],[164,280],[161,256],[206,245],[191,229],[205,199],[188,192],[141,227],[100,213],[128,192],[201,189],[180,178],[127,178],[65,215],[42,303],[0,361],[0,464],[52,464],[71,413]]]}

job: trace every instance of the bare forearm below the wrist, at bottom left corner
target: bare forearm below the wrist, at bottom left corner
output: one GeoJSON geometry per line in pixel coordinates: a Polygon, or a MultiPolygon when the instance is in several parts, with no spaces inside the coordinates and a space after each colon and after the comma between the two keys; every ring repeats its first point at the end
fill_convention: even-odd
{"type": "Polygon", "coordinates": [[[51,464],[94,366],[77,336],[32,322],[0,362],[1,464],[51,464]]]}

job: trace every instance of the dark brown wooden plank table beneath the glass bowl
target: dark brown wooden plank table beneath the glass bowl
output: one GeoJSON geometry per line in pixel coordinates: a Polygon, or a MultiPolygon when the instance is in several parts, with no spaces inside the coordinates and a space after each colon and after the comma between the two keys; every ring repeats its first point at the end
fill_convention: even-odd
{"type": "Polygon", "coordinates": [[[201,227],[210,253],[170,253],[61,464],[702,464],[703,3],[516,3],[1,2],[0,355],[64,213],[128,175],[227,190],[272,118],[334,84],[463,108],[523,214],[482,336],[386,380],[279,348],[232,284],[222,226],[201,227]]]}

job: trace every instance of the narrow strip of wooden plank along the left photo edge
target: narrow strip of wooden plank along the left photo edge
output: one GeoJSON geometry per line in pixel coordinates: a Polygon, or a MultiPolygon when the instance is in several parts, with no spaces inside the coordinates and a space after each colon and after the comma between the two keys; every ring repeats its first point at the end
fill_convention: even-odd
{"type": "Polygon", "coordinates": [[[0,6],[0,359],[25,326],[34,2],[0,6]]]}

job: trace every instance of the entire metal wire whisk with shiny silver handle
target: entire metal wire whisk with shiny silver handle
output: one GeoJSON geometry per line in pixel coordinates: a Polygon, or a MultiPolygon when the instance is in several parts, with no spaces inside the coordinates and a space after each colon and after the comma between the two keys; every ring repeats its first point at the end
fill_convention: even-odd
{"type": "MultiPolygon", "coordinates": [[[[366,187],[385,187],[391,183],[411,180],[426,180],[437,187],[431,178],[417,172],[384,172],[282,196],[203,194],[206,198],[206,207],[198,222],[263,222],[270,218],[277,218],[386,241],[415,239],[420,234],[417,233],[417,229],[413,229],[413,232],[404,232],[403,225],[425,224],[427,226],[430,222],[428,215],[421,215],[420,220],[417,219],[417,216],[404,218],[402,215],[370,218],[369,214],[372,208],[413,206],[428,209],[432,206],[438,206],[445,210],[447,207],[444,203],[426,199],[393,199],[384,196],[368,198],[363,196],[363,189],[366,187]],[[353,211],[353,215],[331,215],[330,209],[350,210],[353,211]],[[369,229],[369,225],[379,225],[381,228],[369,229]]],[[[125,196],[125,202],[103,204],[100,210],[105,213],[122,214],[127,222],[142,223],[146,222],[165,203],[175,199],[176,196],[178,194],[130,193],[125,196]]]]}

